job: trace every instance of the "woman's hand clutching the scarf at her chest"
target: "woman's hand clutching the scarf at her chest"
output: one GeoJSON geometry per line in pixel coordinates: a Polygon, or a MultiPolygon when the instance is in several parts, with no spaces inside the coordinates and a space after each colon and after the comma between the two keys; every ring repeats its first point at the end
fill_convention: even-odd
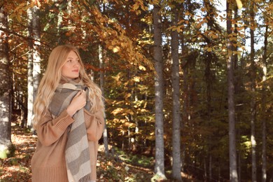
{"type": "Polygon", "coordinates": [[[79,91],[72,99],[69,106],[66,108],[66,112],[72,117],[78,110],[82,109],[86,104],[86,92],[85,90],[79,91]]]}

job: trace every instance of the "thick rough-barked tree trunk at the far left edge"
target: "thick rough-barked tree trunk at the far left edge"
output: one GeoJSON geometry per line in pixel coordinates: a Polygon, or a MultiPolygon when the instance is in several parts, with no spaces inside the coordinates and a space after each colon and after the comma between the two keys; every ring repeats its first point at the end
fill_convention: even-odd
{"type": "MultiPolygon", "coordinates": [[[[0,27],[8,29],[5,5],[0,7],[0,27]]],[[[8,34],[0,30],[0,158],[8,158],[11,146],[11,77],[8,59],[8,34]]]]}

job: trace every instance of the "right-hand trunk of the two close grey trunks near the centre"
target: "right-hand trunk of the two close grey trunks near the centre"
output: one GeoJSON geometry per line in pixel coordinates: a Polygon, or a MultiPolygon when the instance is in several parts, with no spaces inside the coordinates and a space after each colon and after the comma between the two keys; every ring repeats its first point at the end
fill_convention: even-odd
{"type": "MultiPolygon", "coordinates": [[[[173,10],[173,26],[178,22],[177,7],[173,10]]],[[[172,176],[181,179],[181,117],[180,117],[180,86],[179,86],[179,33],[172,31],[172,176]]]]}

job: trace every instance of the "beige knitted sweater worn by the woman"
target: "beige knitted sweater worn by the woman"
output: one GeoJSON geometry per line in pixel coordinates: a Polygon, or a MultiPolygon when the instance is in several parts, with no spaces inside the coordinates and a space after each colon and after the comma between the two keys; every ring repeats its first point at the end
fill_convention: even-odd
{"type": "MultiPolygon", "coordinates": [[[[104,113],[90,113],[85,110],[85,126],[90,149],[91,179],[97,179],[98,140],[104,130],[104,113]]],[[[32,182],[68,182],[65,162],[65,148],[68,126],[73,118],[64,110],[57,118],[52,118],[49,111],[38,122],[38,141],[31,159],[32,182]]],[[[70,182],[70,181],[69,181],[70,182]]]]}

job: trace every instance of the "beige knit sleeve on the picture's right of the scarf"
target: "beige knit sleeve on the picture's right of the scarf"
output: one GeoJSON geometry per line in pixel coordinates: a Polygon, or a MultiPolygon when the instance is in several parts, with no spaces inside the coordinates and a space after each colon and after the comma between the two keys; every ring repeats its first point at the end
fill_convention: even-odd
{"type": "Polygon", "coordinates": [[[103,111],[97,111],[92,114],[89,111],[85,114],[85,127],[87,132],[88,141],[99,141],[104,132],[104,113],[103,111]]]}

